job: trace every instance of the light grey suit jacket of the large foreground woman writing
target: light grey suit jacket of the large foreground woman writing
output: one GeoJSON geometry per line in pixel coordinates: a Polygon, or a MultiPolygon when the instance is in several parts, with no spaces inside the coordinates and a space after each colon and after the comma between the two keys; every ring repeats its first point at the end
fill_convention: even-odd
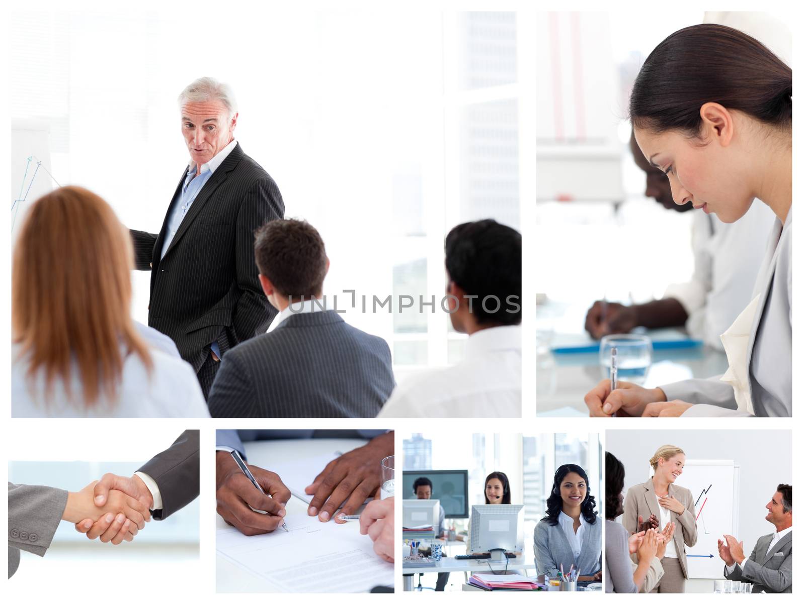
{"type": "MultiPolygon", "coordinates": [[[[755,203],[758,203],[757,201],[755,203]]],[[[792,416],[791,393],[791,214],[779,219],[766,247],[753,297],[759,311],[749,333],[747,367],[755,416],[792,416]]],[[[663,385],[668,400],[694,404],[684,416],[749,416],[739,412],[729,384],[713,379],[688,379],[663,385]]]]}

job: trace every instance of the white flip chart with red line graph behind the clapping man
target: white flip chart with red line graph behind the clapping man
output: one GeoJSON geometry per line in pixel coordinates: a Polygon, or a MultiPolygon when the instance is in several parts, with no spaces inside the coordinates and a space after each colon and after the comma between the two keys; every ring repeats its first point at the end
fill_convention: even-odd
{"type": "Polygon", "coordinates": [[[687,577],[724,579],[718,539],[738,534],[740,477],[741,467],[735,461],[686,459],[676,485],[693,494],[699,535],[696,544],[687,548],[687,577]]]}

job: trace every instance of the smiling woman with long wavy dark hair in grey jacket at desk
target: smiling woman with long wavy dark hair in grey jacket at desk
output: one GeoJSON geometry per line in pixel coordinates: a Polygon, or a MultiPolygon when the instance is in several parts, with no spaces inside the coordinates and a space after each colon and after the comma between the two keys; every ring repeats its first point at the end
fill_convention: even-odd
{"type": "Polygon", "coordinates": [[[563,465],[554,474],[545,517],[534,530],[537,574],[555,576],[560,568],[578,572],[580,582],[601,581],[601,519],[589,492],[587,474],[563,465]]]}

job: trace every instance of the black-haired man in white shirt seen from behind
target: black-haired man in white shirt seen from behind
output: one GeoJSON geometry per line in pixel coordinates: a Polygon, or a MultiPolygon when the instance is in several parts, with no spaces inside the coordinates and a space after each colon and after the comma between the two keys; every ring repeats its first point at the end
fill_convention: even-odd
{"type": "Polygon", "coordinates": [[[444,244],[450,321],[469,334],[456,365],[398,384],[379,417],[519,417],[520,233],[492,219],[459,224],[444,244]]]}

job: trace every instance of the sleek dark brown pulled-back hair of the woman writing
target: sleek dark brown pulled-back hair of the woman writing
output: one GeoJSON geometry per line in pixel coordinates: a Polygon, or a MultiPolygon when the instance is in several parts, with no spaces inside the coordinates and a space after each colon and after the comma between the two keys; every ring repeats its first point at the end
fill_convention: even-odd
{"type": "Polygon", "coordinates": [[[704,23],[669,35],[634,80],[629,117],[655,133],[698,137],[700,109],[723,105],[763,123],[791,126],[791,68],[742,31],[704,23]]]}

